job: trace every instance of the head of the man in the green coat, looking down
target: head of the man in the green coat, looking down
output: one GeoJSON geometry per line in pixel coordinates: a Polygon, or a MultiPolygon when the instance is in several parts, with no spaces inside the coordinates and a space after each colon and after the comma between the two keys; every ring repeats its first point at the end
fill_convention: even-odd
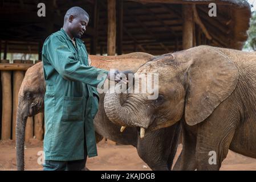
{"type": "Polygon", "coordinates": [[[89,15],[80,7],[71,7],[64,16],[63,29],[71,39],[81,38],[89,22],[89,15]]]}

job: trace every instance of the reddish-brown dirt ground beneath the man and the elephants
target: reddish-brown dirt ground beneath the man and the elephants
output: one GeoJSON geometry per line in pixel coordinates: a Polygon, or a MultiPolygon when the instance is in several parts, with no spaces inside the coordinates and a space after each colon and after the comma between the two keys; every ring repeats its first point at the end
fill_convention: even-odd
{"type": "MultiPolygon", "coordinates": [[[[42,151],[43,143],[36,139],[26,143],[25,169],[42,170],[38,164],[38,152],[42,151]]],[[[181,144],[177,155],[180,154],[181,144]]],[[[90,170],[151,170],[137,155],[135,147],[116,145],[113,142],[101,141],[97,144],[98,156],[88,158],[87,167],[90,170]]],[[[16,170],[15,142],[0,140],[0,170],[16,170]]],[[[177,159],[177,155],[175,160],[177,159]]],[[[42,158],[42,157],[41,157],[42,158]]],[[[229,151],[221,170],[256,170],[256,159],[229,151]]]]}

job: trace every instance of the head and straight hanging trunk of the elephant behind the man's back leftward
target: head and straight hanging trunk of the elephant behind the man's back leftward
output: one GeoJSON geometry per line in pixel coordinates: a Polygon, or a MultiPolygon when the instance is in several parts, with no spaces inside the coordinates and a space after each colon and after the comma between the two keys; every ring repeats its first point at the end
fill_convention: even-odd
{"type": "Polygon", "coordinates": [[[27,117],[31,117],[44,109],[44,93],[46,92],[42,62],[27,69],[19,89],[19,101],[16,123],[17,168],[24,170],[24,140],[27,117]]]}

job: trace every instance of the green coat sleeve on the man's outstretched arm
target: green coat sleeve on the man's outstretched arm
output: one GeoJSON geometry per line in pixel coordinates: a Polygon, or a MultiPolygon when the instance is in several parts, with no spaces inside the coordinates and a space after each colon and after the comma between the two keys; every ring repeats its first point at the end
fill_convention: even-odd
{"type": "Polygon", "coordinates": [[[52,67],[65,79],[81,81],[97,87],[101,81],[108,77],[108,71],[86,66],[81,64],[79,60],[76,60],[61,36],[50,36],[46,44],[44,44],[44,49],[47,52],[47,59],[52,67]],[[100,74],[105,74],[105,77],[97,80],[97,76],[100,74]]]}

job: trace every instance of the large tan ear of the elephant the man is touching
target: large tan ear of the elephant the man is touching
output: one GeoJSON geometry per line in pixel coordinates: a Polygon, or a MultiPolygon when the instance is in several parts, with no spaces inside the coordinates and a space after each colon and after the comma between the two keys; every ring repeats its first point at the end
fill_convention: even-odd
{"type": "Polygon", "coordinates": [[[189,59],[185,121],[192,126],[208,118],[230,96],[237,86],[238,69],[229,57],[213,47],[200,46],[182,54],[189,59]]]}

